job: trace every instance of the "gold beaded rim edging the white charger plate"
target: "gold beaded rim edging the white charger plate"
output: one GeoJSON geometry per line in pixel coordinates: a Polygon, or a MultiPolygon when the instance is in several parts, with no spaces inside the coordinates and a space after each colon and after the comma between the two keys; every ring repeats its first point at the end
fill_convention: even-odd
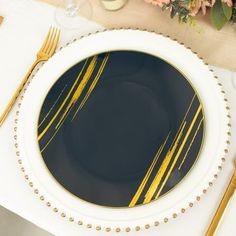
{"type": "MultiPolygon", "coordinates": [[[[116,30],[145,31],[145,32],[149,32],[149,33],[154,33],[154,34],[162,35],[162,36],[164,36],[164,37],[166,37],[166,38],[170,38],[169,35],[164,35],[164,34],[162,34],[162,33],[160,33],[160,32],[148,31],[147,29],[140,29],[140,28],[123,28],[123,27],[122,27],[122,28],[105,29],[105,30],[98,30],[98,31],[96,31],[95,33],[89,33],[89,34],[87,34],[87,35],[83,35],[83,36],[81,36],[81,37],[79,37],[79,38],[75,38],[75,39],[73,39],[72,41],[66,43],[64,46],[59,47],[59,48],[56,50],[56,53],[57,53],[58,51],[61,51],[63,48],[65,48],[66,46],[70,45],[71,43],[73,43],[73,42],[75,42],[75,41],[77,41],[77,40],[80,40],[80,39],[82,39],[82,38],[84,38],[84,37],[88,37],[88,36],[90,36],[90,35],[92,35],[92,34],[94,35],[94,34],[106,32],[106,31],[116,31],[116,30]]],[[[177,39],[172,39],[172,40],[178,42],[177,39]]],[[[182,43],[182,42],[178,42],[178,43],[181,44],[182,46],[184,46],[186,49],[190,50],[192,53],[194,53],[194,54],[198,57],[198,59],[201,60],[201,61],[204,63],[205,66],[208,67],[208,63],[205,63],[205,62],[203,61],[203,58],[200,57],[196,52],[193,52],[190,47],[186,47],[185,44],[182,43]]],[[[44,63],[41,63],[41,66],[42,66],[43,64],[44,64],[44,63]]],[[[150,223],[150,224],[135,226],[134,228],[131,228],[131,227],[129,227],[129,226],[124,227],[124,228],[121,228],[121,227],[114,227],[114,228],[111,228],[111,227],[100,226],[100,225],[92,225],[92,224],[90,224],[90,223],[84,223],[82,220],[75,220],[75,218],[74,218],[73,216],[67,216],[65,212],[60,212],[60,210],[59,210],[56,206],[53,206],[53,204],[52,204],[50,201],[45,200],[45,197],[44,197],[43,195],[40,195],[39,189],[38,189],[38,188],[34,188],[33,182],[30,181],[30,177],[25,173],[25,172],[26,172],[26,171],[25,171],[25,167],[23,166],[22,159],[20,158],[20,151],[19,151],[19,144],[18,144],[18,137],[17,137],[18,117],[19,117],[19,114],[20,114],[21,104],[22,104],[22,101],[23,101],[23,99],[24,99],[24,94],[26,93],[27,88],[28,88],[28,86],[30,85],[31,80],[34,78],[35,74],[39,71],[39,69],[41,68],[41,66],[38,67],[38,68],[35,70],[35,72],[32,74],[31,78],[30,78],[29,81],[26,83],[25,88],[22,90],[22,95],[19,97],[20,99],[19,99],[19,102],[18,102],[18,104],[17,104],[17,111],[16,111],[16,114],[15,114],[16,118],[15,118],[15,120],[14,120],[14,124],[15,124],[15,125],[14,125],[14,136],[13,136],[13,138],[14,138],[14,140],[15,140],[14,146],[15,146],[15,150],[16,150],[17,162],[18,162],[18,164],[19,164],[19,166],[20,166],[20,170],[21,170],[21,172],[23,173],[23,176],[24,176],[25,180],[28,182],[28,185],[33,189],[33,192],[34,192],[36,195],[39,196],[39,199],[40,199],[42,202],[45,202],[45,205],[46,205],[48,208],[51,208],[54,213],[59,214],[62,218],[67,219],[67,220],[68,220],[69,222],[71,222],[71,223],[76,223],[78,226],[84,226],[84,227],[86,227],[87,229],[95,229],[96,231],[101,231],[101,230],[103,230],[103,231],[105,231],[105,232],[116,232],[116,233],[119,233],[119,232],[122,232],[122,231],[124,231],[124,232],[126,232],[126,233],[129,233],[129,232],[131,232],[131,231],[136,231],[136,232],[137,232],[137,231],[140,231],[140,230],[147,230],[147,229],[149,229],[149,228],[151,228],[151,227],[158,227],[158,226],[160,225],[160,223],[168,223],[170,218],[172,218],[172,219],[177,218],[177,216],[178,216],[180,213],[183,214],[183,213],[186,212],[186,210],[187,210],[188,208],[193,207],[193,205],[194,205],[195,202],[199,202],[199,201],[201,200],[201,196],[202,196],[203,194],[206,194],[208,188],[210,188],[211,186],[213,186],[214,181],[218,178],[218,172],[222,170],[222,166],[223,166],[224,162],[226,161],[225,156],[226,156],[226,155],[228,154],[228,152],[229,152],[228,146],[230,145],[230,141],[229,141],[230,136],[231,136],[230,128],[232,127],[232,125],[231,125],[231,123],[230,123],[230,119],[231,119],[231,116],[230,116],[230,114],[229,114],[230,107],[229,107],[229,105],[228,105],[228,99],[225,97],[225,91],[222,90],[222,84],[219,82],[218,77],[217,77],[216,75],[214,75],[214,70],[213,70],[213,69],[210,69],[210,68],[208,67],[208,70],[211,71],[212,74],[213,74],[213,78],[217,80],[217,85],[220,87],[220,92],[221,92],[221,94],[223,95],[222,97],[223,97],[223,101],[224,101],[224,103],[225,103],[225,110],[227,111],[226,117],[227,117],[227,120],[228,120],[228,124],[227,124],[228,130],[227,130],[227,133],[226,133],[226,134],[227,134],[227,140],[225,140],[225,146],[226,146],[226,148],[224,149],[224,153],[223,153],[223,155],[222,155],[222,157],[221,157],[221,163],[218,165],[218,167],[217,167],[217,169],[216,169],[216,171],[215,171],[215,174],[214,174],[213,177],[212,177],[212,180],[208,183],[208,185],[206,186],[206,188],[204,188],[204,189],[202,190],[202,192],[201,192],[199,195],[197,195],[197,196],[195,197],[195,199],[194,199],[193,202],[189,202],[189,204],[188,204],[186,207],[181,208],[181,209],[179,210],[179,212],[173,213],[171,217],[169,217],[169,218],[168,218],[168,217],[164,217],[161,222],[160,222],[160,221],[154,221],[154,222],[152,222],[152,223],[150,223]]]]}

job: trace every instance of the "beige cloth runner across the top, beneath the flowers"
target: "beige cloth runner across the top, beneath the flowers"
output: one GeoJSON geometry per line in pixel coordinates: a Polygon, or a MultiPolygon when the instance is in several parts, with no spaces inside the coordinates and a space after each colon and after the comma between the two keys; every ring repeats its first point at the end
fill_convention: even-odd
{"type": "MultiPolygon", "coordinates": [[[[61,0],[40,1],[53,5],[61,3],[61,0]]],[[[93,6],[92,20],[107,28],[154,30],[184,43],[205,62],[236,71],[236,24],[228,24],[217,31],[209,22],[209,16],[199,16],[194,26],[179,24],[177,19],[169,17],[169,12],[163,12],[144,0],[128,0],[125,7],[116,12],[104,10],[99,0],[90,2],[93,6]]]]}

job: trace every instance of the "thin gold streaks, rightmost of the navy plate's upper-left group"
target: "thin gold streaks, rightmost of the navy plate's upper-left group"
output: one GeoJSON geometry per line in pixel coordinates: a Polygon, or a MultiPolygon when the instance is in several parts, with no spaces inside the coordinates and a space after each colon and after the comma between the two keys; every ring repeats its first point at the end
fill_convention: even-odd
{"type": "Polygon", "coordinates": [[[80,103],[80,105],[79,105],[78,109],[76,110],[74,116],[72,117],[72,120],[71,120],[71,121],[74,120],[74,118],[76,117],[77,113],[83,108],[84,104],[85,104],[86,101],[88,100],[88,97],[90,96],[90,94],[91,94],[92,91],[94,90],[94,88],[95,88],[95,86],[96,86],[96,84],[97,84],[97,82],[98,82],[98,80],[99,80],[101,74],[103,73],[103,70],[104,70],[104,68],[105,68],[105,66],[106,66],[106,64],[107,64],[108,59],[109,59],[109,53],[107,53],[106,56],[104,57],[104,59],[103,59],[103,61],[102,61],[102,64],[101,64],[101,66],[100,66],[100,68],[99,68],[99,71],[98,71],[98,73],[97,73],[95,79],[93,80],[92,84],[90,85],[90,87],[89,87],[89,89],[88,89],[86,95],[84,96],[82,102],[80,103]]]}

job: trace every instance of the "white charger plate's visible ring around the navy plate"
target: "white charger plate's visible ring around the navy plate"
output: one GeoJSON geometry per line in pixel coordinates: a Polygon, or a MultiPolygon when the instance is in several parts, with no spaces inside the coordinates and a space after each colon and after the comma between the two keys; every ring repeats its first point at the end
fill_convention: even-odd
{"type": "Polygon", "coordinates": [[[113,30],[84,37],[58,51],[25,89],[15,127],[18,162],[33,191],[48,207],[69,221],[97,230],[140,230],[167,222],[191,207],[212,185],[229,144],[227,99],[221,84],[196,54],[162,35],[138,30],[113,30]],[[78,62],[107,51],[129,50],[157,56],[174,65],[197,91],[204,110],[205,140],[194,168],[178,187],[147,205],[107,208],[65,190],[48,171],[38,147],[37,122],[43,101],[57,79],[78,62]],[[18,121],[19,120],[19,121],[18,121]]]}

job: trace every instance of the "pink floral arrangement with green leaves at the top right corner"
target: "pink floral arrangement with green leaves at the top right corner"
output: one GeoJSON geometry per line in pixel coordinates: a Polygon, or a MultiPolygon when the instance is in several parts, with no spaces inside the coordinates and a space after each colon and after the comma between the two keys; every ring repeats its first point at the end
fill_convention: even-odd
{"type": "Polygon", "coordinates": [[[200,11],[207,9],[213,25],[220,30],[228,21],[236,23],[236,0],[145,0],[162,10],[169,10],[171,18],[177,16],[180,22],[192,22],[200,11]]]}

